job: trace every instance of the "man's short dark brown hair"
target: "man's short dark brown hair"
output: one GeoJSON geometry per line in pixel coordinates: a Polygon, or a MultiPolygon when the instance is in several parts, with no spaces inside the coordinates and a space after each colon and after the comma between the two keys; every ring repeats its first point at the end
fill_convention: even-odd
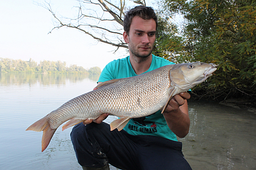
{"type": "Polygon", "coordinates": [[[126,13],[125,19],[124,19],[124,30],[129,35],[130,27],[131,27],[131,20],[135,16],[139,16],[142,19],[154,19],[156,22],[156,28],[157,28],[157,17],[155,14],[155,11],[151,7],[145,7],[145,6],[136,6],[130,11],[126,13]]]}

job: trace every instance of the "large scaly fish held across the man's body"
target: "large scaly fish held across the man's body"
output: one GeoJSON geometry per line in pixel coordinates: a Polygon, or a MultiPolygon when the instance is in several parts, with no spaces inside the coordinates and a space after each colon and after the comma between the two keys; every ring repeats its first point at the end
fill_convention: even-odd
{"type": "Polygon", "coordinates": [[[164,111],[171,97],[202,83],[215,70],[216,65],[211,63],[172,64],[134,77],[106,81],[97,90],[67,101],[27,130],[43,131],[42,152],[57,128],[68,120],[62,131],[109,113],[120,118],[111,122],[111,130],[120,131],[132,118],[148,116],[162,108],[164,111]]]}

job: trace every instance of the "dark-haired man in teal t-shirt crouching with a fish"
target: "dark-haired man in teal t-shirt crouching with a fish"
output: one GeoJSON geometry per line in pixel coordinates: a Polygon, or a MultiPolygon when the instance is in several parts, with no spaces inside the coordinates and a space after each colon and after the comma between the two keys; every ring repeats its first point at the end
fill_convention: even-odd
{"type": "MultiPolygon", "coordinates": [[[[99,83],[139,75],[160,66],[174,64],[152,55],[157,18],[150,7],[137,6],[124,19],[124,40],[130,56],[106,65],[99,83]]],[[[95,88],[96,89],[96,88],[95,88]]],[[[93,89],[93,90],[95,90],[93,89]]],[[[131,119],[121,131],[110,131],[102,122],[109,114],[76,125],[71,140],[83,169],[191,169],[176,136],[189,132],[188,92],[175,95],[163,114],[131,119]],[[85,126],[86,125],[86,126],[85,126]]]]}

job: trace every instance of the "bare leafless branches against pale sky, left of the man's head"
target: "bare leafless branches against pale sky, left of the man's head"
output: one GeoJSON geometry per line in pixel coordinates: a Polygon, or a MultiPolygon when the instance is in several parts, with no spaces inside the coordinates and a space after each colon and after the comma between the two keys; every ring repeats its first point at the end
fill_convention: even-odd
{"type": "Polygon", "coordinates": [[[125,0],[120,0],[117,3],[106,0],[81,0],[77,3],[78,6],[75,7],[76,18],[57,16],[50,3],[39,4],[50,11],[57,21],[57,25],[51,32],[62,27],[77,29],[99,42],[113,45],[117,49],[120,47],[128,48],[122,40],[125,11],[130,6],[138,4],[145,6],[146,4],[145,0],[128,2],[128,4],[125,0]]]}

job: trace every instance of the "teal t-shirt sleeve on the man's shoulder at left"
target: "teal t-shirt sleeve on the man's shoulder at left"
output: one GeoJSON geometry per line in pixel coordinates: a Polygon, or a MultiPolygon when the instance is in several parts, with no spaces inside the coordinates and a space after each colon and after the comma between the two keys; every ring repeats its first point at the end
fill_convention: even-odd
{"type": "Polygon", "coordinates": [[[115,79],[114,78],[114,69],[115,69],[114,66],[115,66],[114,61],[111,61],[109,64],[107,64],[105,66],[105,68],[101,71],[100,78],[97,81],[97,83],[115,79]]]}

